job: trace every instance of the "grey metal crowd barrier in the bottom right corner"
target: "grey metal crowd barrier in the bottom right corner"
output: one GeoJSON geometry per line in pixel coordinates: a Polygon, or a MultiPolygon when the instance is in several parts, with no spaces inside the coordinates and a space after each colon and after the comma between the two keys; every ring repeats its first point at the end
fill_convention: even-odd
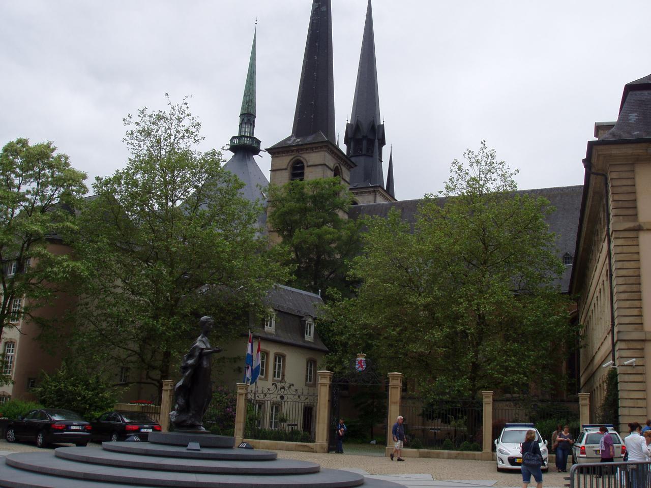
{"type": "Polygon", "coordinates": [[[569,480],[570,488],[651,488],[651,461],[575,464],[569,480]]]}

